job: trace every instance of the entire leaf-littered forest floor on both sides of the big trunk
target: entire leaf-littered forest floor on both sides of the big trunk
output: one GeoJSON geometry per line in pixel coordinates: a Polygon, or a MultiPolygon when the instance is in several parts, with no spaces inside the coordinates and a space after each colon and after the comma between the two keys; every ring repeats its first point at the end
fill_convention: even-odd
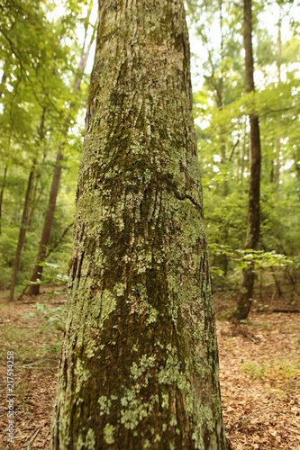
{"type": "MultiPolygon", "coordinates": [[[[48,293],[38,302],[25,296],[8,304],[5,295],[0,448],[48,448],[66,297],[48,293]],[[14,351],[14,445],[7,445],[6,434],[7,351],[14,351]]],[[[217,320],[217,330],[228,448],[300,449],[300,314],[254,311],[242,325],[217,320]]]]}

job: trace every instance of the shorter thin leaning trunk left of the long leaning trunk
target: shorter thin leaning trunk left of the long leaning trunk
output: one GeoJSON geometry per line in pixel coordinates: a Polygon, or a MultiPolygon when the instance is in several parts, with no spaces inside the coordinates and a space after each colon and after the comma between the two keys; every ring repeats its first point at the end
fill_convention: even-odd
{"type": "Polygon", "coordinates": [[[14,289],[16,284],[16,279],[18,275],[18,271],[21,264],[21,256],[22,256],[22,250],[26,238],[26,231],[29,225],[29,209],[31,205],[32,200],[32,186],[34,181],[34,174],[35,174],[35,167],[36,167],[36,159],[33,161],[32,169],[28,177],[28,183],[27,183],[27,189],[23,204],[23,214],[22,214],[22,220],[20,225],[20,231],[19,231],[19,238],[18,238],[18,244],[15,252],[14,257],[14,268],[13,268],[13,276],[12,276],[12,282],[11,282],[11,288],[9,293],[9,301],[13,302],[14,300],[14,289]]]}

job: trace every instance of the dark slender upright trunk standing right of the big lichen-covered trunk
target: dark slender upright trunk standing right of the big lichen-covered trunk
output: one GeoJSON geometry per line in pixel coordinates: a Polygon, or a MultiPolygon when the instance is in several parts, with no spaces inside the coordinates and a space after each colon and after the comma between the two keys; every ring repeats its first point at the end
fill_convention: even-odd
{"type": "MultiPolygon", "coordinates": [[[[254,68],[252,53],[252,6],[251,0],[244,0],[244,49],[245,49],[245,88],[246,93],[254,91],[254,68]]],[[[259,245],[259,200],[260,200],[260,139],[259,118],[250,115],[250,186],[248,202],[248,229],[245,248],[256,250],[259,245]]],[[[243,271],[241,293],[235,316],[246,319],[250,312],[253,287],[254,267],[250,265],[243,271]]]]}

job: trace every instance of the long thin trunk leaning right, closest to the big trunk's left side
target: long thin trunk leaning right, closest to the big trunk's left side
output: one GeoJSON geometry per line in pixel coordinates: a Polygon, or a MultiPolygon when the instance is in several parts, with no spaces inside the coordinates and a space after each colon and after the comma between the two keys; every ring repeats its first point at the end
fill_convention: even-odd
{"type": "MultiPolygon", "coordinates": [[[[86,34],[87,34],[87,27],[86,27],[86,34]]],[[[86,69],[87,58],[88,58],[88,55],[89,55],[89,52],[92,47],[94,39],[95,39],[95,27],[94,27],[94,31],[93,31],[91,40],[89,41],[86,50],[85,50],[86,38],[85,38],[85,43],[84,43],[84,46],[82,49],[79,67],[78,67],[78,76],[75,81],[75,85],[74,85],[74,89],[73,89],[74,93],[76,93],[80,89],[81,78],[86,69]]],[[[73,108],[74,108],[74,105],[71,104],[70,110],[73,108]]],[[[64,125],[63,142],[66,141],[69,125],[70,125],[70,119],[68,118],[64,125]]],[[[65,145],[64,143],[61,143],[59,152],[58,152],[57,158],[56,158],[56,164],[55,164],[53,178],[52,178],[52,184],[51,184],[51,188],[50,188],[48,209],[47,209],[47,213],[45,216],[44,225],[43,225],[43,229],[42,229],[42,233],[41,233],[41,241],[40,241],[40,245],[39,245],[38,257],[36,259],[35,266],[33,268],[32,278],[31,278],[32,283],[36,283],[36,281],[38,279],[41,279],[43,266],[40,266],[40,265],[45,260],[46,255],[47,255],[47,247],[49,245],[50,233],[51,233],[52,223],[53,223],[53,219],[54,219],[54,212],[55,212],[55,207],[56,207],[56,201],[57,201],[57,197],[58,197],[58,193],[59,193],[59,180],[60,180],[61,167],[62,167],[61,163],[62,163],[62,159],[63,159],[62,149],[63,149],[64,145],[65,145]]],[[[41,286],[40,284],[31,284],[29,291],[28,291],[29,295],[39,295],[40,286],[41,286]]]]}

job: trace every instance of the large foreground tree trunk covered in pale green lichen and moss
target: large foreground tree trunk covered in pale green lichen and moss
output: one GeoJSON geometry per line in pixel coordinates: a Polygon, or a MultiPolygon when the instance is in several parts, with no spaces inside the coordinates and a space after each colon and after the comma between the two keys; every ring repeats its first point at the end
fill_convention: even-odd
{"type": "Polygon", "coordinates": [[[183,2],[100,0],[52,449],[224,449],[183,2]]]}

